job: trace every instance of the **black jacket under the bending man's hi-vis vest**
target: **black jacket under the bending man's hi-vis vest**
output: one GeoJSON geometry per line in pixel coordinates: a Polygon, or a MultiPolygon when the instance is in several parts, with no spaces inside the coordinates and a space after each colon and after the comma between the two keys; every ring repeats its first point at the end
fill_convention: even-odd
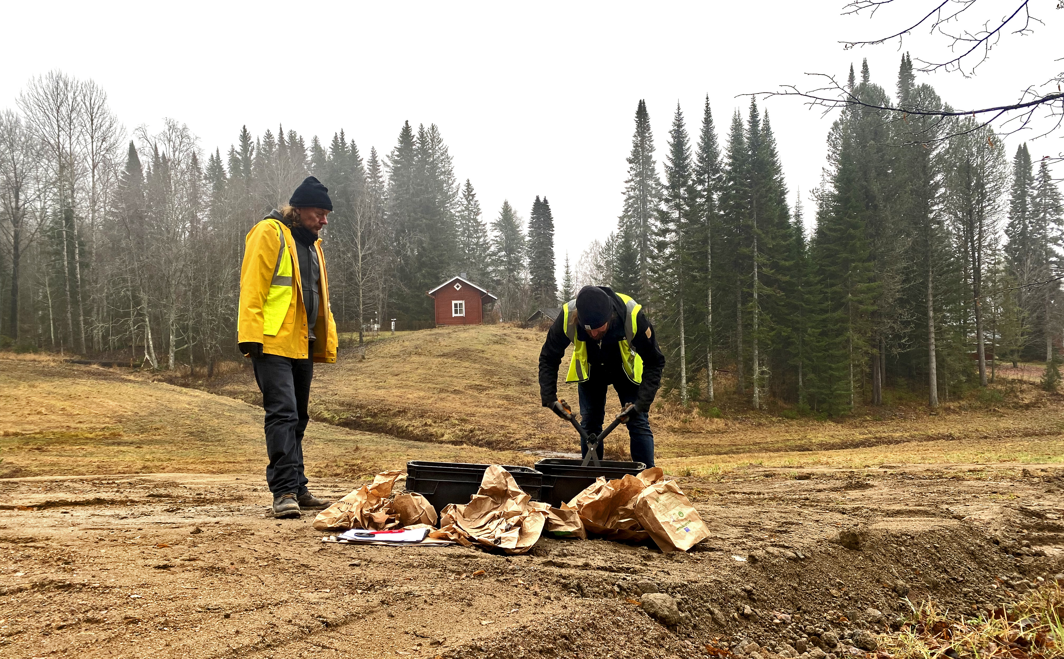
{"type": "MultiPolygon", "coordinates": [[[[625,302],[608,286],[600,286],[610,294],[613,300],[613,319],[610,329],[601,341],[592,341],[583,326],[577,326],[577,339],[587,344],[587,361],[591,366],[591,379],[598,381],[605,378],[610,384],[629,382],[620,361],[620,342],[625,339],[625,302]]],[[[662,382],[662,369],[665,368],[665,356],[658,348],[658,333],[654,331],[647,314],[639,310],[635,316],[635,336],[632,339],[632,349],[643,358],[643,382],[639,384],[635,407],[641,412],[650,411],[658,388],[662,382]]],[[[558,366],[565,357],[565,348],[570,341],[565,335],[565,311],[558,314],[558,319],[547,330],[547,340],[543,342],[539,351],[539,396],[544,407],[558,400],[558,366]]]]}

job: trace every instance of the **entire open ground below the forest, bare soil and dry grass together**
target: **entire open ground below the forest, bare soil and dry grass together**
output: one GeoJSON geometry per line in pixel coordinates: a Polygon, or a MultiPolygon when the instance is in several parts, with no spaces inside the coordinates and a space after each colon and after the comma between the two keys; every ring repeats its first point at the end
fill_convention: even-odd
{"type": "MultiPolygon", "coordinates": [[[[538,408],[542,334],[462,331],[316,370],[332,422],[307,430],[317,494],[409,459],[572,450],[538,408]]],[[[227,395],[154,379],[0,356],[0,657],[842,657],[909,602],[990,610],[1062,571],[1064,413],[1030,390],[844,423],[666,405],[661,462],[706,542],[545,538],[505,557],[322,543],[310,514],[273,520],[250,373],[181,382],[227,395]],[[632,604],[652,590],[687,616],[632,604]]]]}

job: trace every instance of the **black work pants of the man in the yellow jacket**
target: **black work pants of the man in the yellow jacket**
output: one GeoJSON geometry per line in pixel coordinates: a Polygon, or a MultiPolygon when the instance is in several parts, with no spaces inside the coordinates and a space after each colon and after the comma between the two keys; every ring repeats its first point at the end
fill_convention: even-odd
{"type": "MultiPolygon", "coordinates": [[[[312,349],[307,355],[313,355],[312,349]]],[[[310,415],[306,403],[311,398],[314,361],[290,359],[280,355],[251,358],[255,381],[263,393],[266,410],[266,482],[273,496],[306,492],[303,475],[303,431],[310,415]]]]}

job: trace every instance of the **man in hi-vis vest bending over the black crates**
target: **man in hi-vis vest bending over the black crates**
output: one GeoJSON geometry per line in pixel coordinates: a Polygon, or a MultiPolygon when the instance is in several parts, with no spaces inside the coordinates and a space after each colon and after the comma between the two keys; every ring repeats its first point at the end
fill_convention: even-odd
{"type": "MultiPolygon", "coordinates": [[[[584,286],[569,301],[547,331],[539,352],[539,395],[543,407],[562,415],[558,400],[558,366],[565,348],[573,345],[566,382],[577,382],[580,395],[580,425],[587,433],[602,431],[605,390],[613,389],[621,407],[635,405],[628,415],[628,436],[632,460],[654,465],[654,435],[647,412],[662,381],[665,356],[658,348],[653,326],[643,306],[606,286],[584,286]]],[[[602,442],[598,457],[602,458],[602,442]]],[[[587,442],[580,440],[581,456],[587,442]]]]}

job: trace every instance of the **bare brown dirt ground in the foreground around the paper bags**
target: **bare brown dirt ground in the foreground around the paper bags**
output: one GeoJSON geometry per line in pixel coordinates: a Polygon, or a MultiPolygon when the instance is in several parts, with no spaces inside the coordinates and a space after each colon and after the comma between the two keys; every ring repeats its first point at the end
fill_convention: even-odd
{"type": "Polygon", "coordinates": [[[1051,578],[1060,474],[744,469],[682,480],[714,531],[691,553],[545,538],[514,557],[321,543],[310,516],[267,516],[251,476],[0,481],[0,654],[839,657],[905,598],[992,609],[1051,578]],[[648,615],[653,593],[675,614],[648,615]]]}

